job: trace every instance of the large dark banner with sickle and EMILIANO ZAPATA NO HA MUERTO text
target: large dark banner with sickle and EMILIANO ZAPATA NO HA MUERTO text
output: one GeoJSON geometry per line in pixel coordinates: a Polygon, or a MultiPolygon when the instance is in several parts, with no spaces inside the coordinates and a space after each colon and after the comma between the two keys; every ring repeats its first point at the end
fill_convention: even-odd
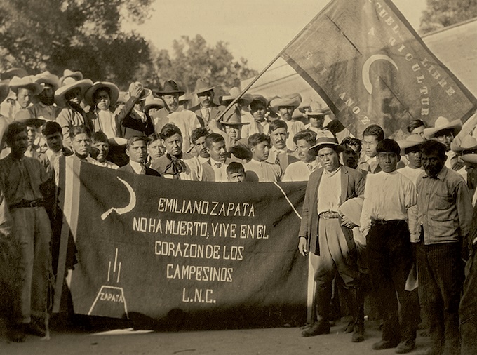
{"type": "Polygon", "coordinates": [[[88,163],[67,166],[65,181],[75,313],[304,321],[304,183],[188,182],[88,163]]]}

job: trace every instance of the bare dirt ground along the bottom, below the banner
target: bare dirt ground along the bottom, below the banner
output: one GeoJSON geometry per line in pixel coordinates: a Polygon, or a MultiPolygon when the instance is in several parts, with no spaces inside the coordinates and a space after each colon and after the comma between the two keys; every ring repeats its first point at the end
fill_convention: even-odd
{"type": "MultiPolygon", "coordinates": [[[[267,328],[238,330],[204,330],[158,332],[152,330],[116,329],[110,325],[101,330],[78,327],[58,329],[53,326],[51,339],[32,335],[24,343],[10,343],[6,325],[0,320],[0,354],[395,354],[394,349],[373,351],[380,340],[377,323],[365,325],[365,341],[352,343],[345,334],[344,321],[331,328],[329,335],[302,337],[300,328],[267,328]]],[[[417,349],[425,349],[429,338],[417,337],[417,349]]]]}

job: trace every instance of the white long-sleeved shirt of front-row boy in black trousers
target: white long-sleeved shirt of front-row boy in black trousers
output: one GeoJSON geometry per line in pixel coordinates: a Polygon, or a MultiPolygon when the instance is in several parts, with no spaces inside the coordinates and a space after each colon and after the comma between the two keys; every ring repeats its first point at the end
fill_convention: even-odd
{"type": "Polygon", "coordinates": [[[408,220],[408,209],[417,203],[416,188],[397,170],[368,174],[361,210],[361,232],[366,236],[371,219],[408,220]]]}

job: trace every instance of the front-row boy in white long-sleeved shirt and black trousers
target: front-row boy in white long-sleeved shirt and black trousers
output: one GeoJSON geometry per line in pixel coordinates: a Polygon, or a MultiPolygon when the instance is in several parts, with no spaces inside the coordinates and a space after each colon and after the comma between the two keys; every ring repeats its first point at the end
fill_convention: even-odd
{"type": "Polygon", "coordinates": [[[412,266],[410,230],[415,230],[407,221],[412,220],[408,213],[417,203],[417,194],[412,181],[396,171],[401,160],[398,143],[385,139],[377,143],[375,150],[381,171],[368,174],[366,179],[360,228],[366,236],[370,279],[384,319],[382,340],[372,349],[397,347],[396,353],[405,354],[414,349],[417,331],[415,315],[408,304],[409,293],[405,293],[412,266]]]}

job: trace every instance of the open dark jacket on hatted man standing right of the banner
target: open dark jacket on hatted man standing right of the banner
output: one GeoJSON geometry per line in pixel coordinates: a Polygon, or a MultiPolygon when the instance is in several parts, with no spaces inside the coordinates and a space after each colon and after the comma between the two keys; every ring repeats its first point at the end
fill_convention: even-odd
{"type": "MultiPolygon", "coordinates": [[[[340,204],[342,204],[348,199],[364,194],[365,178],[361,173],[347,166],[341,166],[340,169],[340,204]]],[[[309,239],[309,251],[316,255],[320,255],[320,244],[318,243],[318,186],[321,182],[321,176],[323,176],[323,168],[315,170],[309,177],[307,191],[304,194],[300,234],[298,234],[309,239]]]]}

